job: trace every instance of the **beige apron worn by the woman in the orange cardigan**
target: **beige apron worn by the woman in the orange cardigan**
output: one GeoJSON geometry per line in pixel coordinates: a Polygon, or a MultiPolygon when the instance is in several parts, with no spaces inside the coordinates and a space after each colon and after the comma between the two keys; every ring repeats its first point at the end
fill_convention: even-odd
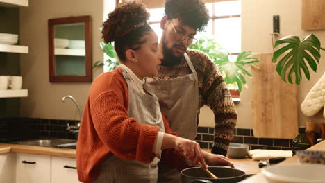
{"type": "MultiPolygon", "coordinates": [[[[142,94],[135,83],[131,82],[130,76],[124,69],[122,69],[122,73],[128,84],[128,116],[135,118],[138,123],[158,125],[160,132],[165,132],[158,98],[145,83],[143,85],[144,90],[149,94],[142,94]]],[[[143,164],[137,160],[126,161],[120,159],[112,153],[101,162],[100,175],[94,182],[156,183],[159,160],[158,157],[155,157],[150,164],[143,164]]]]}

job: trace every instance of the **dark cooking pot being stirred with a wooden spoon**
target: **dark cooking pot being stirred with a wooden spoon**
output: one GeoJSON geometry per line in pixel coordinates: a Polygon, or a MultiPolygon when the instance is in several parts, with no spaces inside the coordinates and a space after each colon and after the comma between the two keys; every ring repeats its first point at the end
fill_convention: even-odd
{"type": "Polygon", "coordinates": [[[235,183],[240,182],[246,178],[244,171],[235,168],[228,168],[224,166],[209,166],[211,171],[218,178],[210,178],[201,167],[186,168],[181,171],[182,183],[189,182],[217,182],[217,183],[235,183]]]}

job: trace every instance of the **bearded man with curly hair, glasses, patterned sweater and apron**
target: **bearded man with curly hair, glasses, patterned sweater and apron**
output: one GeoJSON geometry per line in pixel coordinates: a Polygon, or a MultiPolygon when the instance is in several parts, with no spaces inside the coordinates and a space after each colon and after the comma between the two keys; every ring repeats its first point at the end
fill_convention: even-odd
{"type": "MultiPolygon", "coordinates": [[[[148,78],[147,83],[155,90],[170,127],[181,137],[196,137],[200,108],[208,105],[215,114],[212,153],[225,156],[237,112],[217,66],[205,53],[188,49],[197,42],[194,35],[204,30],[208,20],[208,10],[201,0],[166,1],[159,45],[164,58],[158,77],[148,78]]],[[[159,180],[181,182],[181,176],[176,169],[160,164],[159,180]]]]}

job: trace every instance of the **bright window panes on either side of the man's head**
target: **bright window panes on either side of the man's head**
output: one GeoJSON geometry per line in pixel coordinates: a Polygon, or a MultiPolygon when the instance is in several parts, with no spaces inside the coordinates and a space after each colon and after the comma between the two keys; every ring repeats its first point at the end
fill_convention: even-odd
{"type": "MultiPolygon", "coordinates": [[[[233,55],[240,53],[242,32],[240,17],[241,2],[235,0],[206,3],[206,7],[209,10],[210,21],[208,22],[206,30],[197,33],[196,37],[215,37],[216,42],[228,52],[233,55]]],[[[151,8],[149,12],[151,15],[149,23],[160,39],[163,33],[163,30],[160,28],[160,20],[164,16],[164,8],[151,8]]]]}

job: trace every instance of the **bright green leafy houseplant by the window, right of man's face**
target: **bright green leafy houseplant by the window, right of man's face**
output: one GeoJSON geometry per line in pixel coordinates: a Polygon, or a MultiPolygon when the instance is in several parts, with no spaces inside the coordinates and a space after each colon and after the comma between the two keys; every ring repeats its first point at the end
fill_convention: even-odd
{"type": "Polygon", "coordinates": [[[233,85],[239,92],[242,91],[242,85],[247,83],[244,76],[252,76],[249,71],[244,69],[244,66],[250,64],[259,69],[253,63],[260,62],[260,60],[252,58],[253,53],[251,51],[242,51],[237,59],[234,60],[231,53],[222,49],[222,46],[217,44],[214,39],[208,37],[200,37],[197,44],[191,45],[190,49],[198,49],[208,54],[211,60],[219,67],[226,84],[233,85]]]}

